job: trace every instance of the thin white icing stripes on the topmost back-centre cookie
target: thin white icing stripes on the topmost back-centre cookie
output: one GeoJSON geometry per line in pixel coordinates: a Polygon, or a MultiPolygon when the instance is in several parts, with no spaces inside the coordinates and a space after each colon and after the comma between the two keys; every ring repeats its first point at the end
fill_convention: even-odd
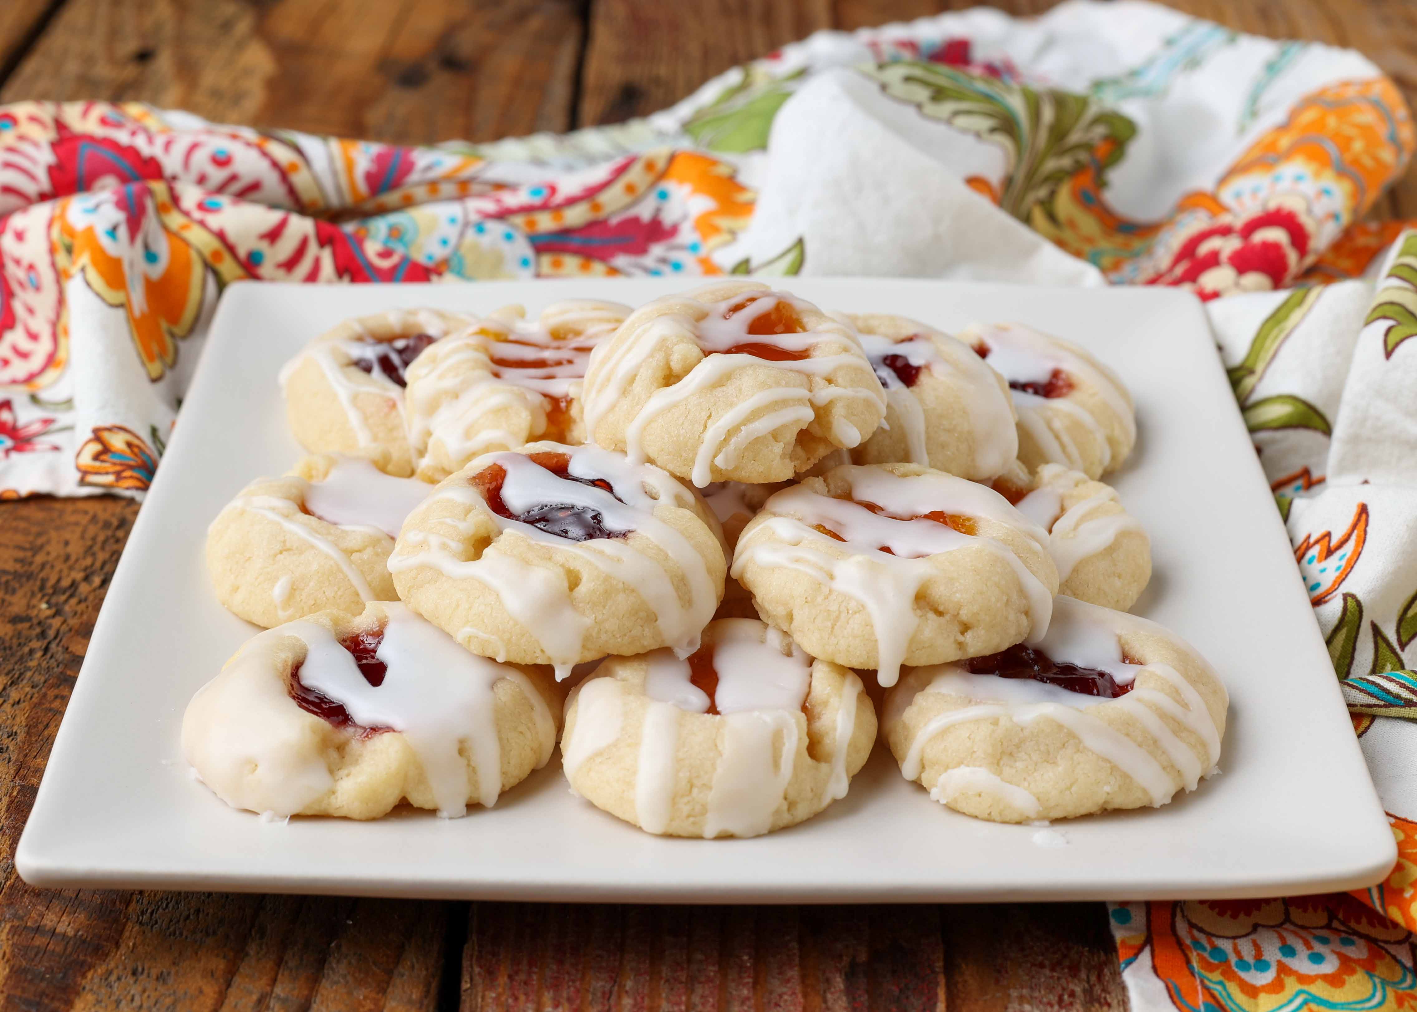
{"type": "MultiPolygon", "coordinates": [[[[693,299],[693,296],[687,296],[693,299]]],[[[686,296],[667,296],[670,303],[682,305],[686,296]]],[[[857,334],[849,325],[840,320],[830,320],[802,333],[786,334],[754,334],[750,325],[761,315],[771,312],[779,303],[794,308],[796,312],[813,312],[812,306],[794,299],[785,292],[771,292],[767,289],[744,289],[737,295],[716,303],[699,303],[706,315],[701,319],[676,312],[653,317],[640,326],[631,340],[619,347],[605,346],[604,353],[591,360],[589,376],[594,394],[585,401],[585,428],[595,432],[601,420],[625,395],[631,381],[640,366],[666,339],[673,336],[693,336],[704,357],[694,364],[687,376],[677,383],[656,390],[636,412],[625,431],[626,454],[631,461],[645,459],[643,431],[655,418],[669,408],[680,404],[687,397],[718,386],[738,369],[760,366],[798,373],[808,378],[805,387],[781,387],[758,391],[743,403],[735,404],[728,412],[716,418],[707,428],[699,449],[694,455],[691,480],[696,486],[708,485],[713,465],[718,468],[733,468],[743,449],[752,441],[782,427],[803,428],[815,417],[819,408],[837,398],[859,398],[874,401],[881,412],[886,410],[884,393],[866,388],[833,387],[813,384],[811,380],[828,380],[833,371],[846,366],[866,366],[869,363],[860,352],[857,334]],[[747,306],[737,309],[731,316],[724,316],[730,309],[752,299],[747,306]],[[747,353],[728,353],[728,349],[740,344],[771,344],[788,352],[811,352],[822,342],[837,342],[847,346],[846,353],[808,356],[805,359],[786,359],[775,361],[747,353]],[[820,386],[819,390],[811,390],[820,386]],[[777,407],[772,407],[777,405],[777,407]],[[754,418],[764,408],[769,408],[761,418],[754,418]],[[738,429],[737,432],[734,432],[738,429]]],[[[650,303],[655,305],[655,303],[650,303]]],[[[862,441],[862,432],[837,418],[833,425],[832,439],[843,446],[856,446],[862,441]]]]}

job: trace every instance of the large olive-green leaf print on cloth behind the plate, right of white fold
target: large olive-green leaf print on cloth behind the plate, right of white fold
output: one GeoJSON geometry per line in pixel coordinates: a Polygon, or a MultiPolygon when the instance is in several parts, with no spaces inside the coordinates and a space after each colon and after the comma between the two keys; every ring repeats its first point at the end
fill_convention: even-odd
{"type": "Polygon", "coordinates": [[[1007,170],[999,206],[1027,223],[1034,207],[1051,215],[1053,198],[1104,140],[1115,142],[1100,163],[1115,164],[1136,125],[1087,95],[1026,88],[965,74],[941,64],[897,61],[862,67],[891,98],[921,115],[1000,147],[1007,170]]]}

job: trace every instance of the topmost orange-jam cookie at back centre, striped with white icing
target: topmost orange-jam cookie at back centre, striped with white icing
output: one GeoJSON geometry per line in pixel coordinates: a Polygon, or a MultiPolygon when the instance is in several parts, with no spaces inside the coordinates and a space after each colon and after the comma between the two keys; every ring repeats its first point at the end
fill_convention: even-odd
{"type": "Polygon", "coordinates": [[[850,325],[751,281],[640,306],[585,374],[589,438],[699,488],[789,480],[884,414],[850,325]]]}

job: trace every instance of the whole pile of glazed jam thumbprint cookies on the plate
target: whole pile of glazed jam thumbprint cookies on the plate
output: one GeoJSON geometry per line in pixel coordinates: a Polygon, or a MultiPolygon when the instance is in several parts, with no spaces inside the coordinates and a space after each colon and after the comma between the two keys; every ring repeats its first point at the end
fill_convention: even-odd
{"type": "Polygon", "coordinates": [[[1149,541],[1098,479],[1131,398],[1073,344],[734,281],[350,320],[282,383],[315,455],[207,544],[268,631],[183,724],[234,806],[461,815],[560,743],[621,819],[754,836],[843,797],[877,729],[1003,822],[1216,768],[1224,687],[1125,611],[1149,541]]]}

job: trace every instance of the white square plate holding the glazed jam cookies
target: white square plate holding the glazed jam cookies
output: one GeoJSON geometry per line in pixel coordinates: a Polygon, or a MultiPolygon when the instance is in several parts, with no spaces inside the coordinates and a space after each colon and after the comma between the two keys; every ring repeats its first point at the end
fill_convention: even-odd
{"type": "Polygon", "coordinates": [[[1284,526],[1192,296],[795,279],[847,312],[945,330],[1019,320],[1114,366],[1141,439],[1115,483],[1152,536],[1138,605],[1193,642],[1231,693],[1224,774],[1162,809],[1037,829],[981,822],[905,782],[879,746],[850,794],[748,840],[642,833],[571,795],[558,763],[456,821],[261,822],[196,784],[179,751],[193,692],[255,629],[207,585],[207,524],[289,468],[276,370],[346,316],[486,312],[587,296],[639,303],[682,279],[475,285],[235,285],[221,300],[54,743],[16,865],[40,886],[143,886],[517,900],[910,901],[1243,897],[1356,889],[1396,848],[1301,587],[1284,526]]]}

